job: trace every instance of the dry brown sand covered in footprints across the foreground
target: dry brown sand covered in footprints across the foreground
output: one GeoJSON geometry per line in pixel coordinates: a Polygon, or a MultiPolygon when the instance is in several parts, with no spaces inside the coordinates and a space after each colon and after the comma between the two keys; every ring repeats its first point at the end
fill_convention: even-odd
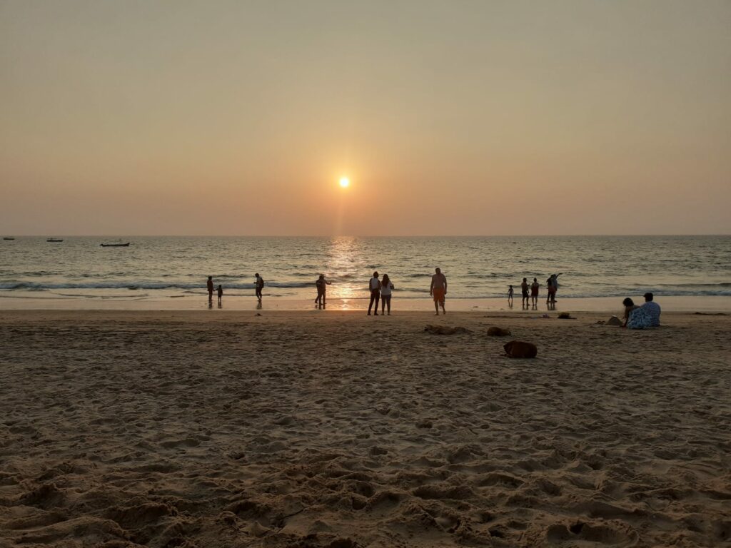
{"type": "Polygon", "coordinates": [[[728,545],[731,316],[551,315],[6,311],[0,547],[728,545]]]}

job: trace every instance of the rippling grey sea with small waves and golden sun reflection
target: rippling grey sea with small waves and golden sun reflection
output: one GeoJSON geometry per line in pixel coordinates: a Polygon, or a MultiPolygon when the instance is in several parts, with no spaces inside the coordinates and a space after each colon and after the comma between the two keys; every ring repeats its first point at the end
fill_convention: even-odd
{"type": "MultiPolygon", "coordinates": [[[[195,299],[208,275],[226,298],[251,297],[254,273],[267,299],[314,299],[319,273],[329,299],[366,299],[374,270],[394,299],[426,299],[434,267],[449,298],[504,297],[523,277],[558,278],[559,297],[730,296],[731,236],[541,237],[110,237],[0,240],[3,297],[33,300],[195,299]]],[[[545,295],[545,287],[541,294],[545,295]]]]}

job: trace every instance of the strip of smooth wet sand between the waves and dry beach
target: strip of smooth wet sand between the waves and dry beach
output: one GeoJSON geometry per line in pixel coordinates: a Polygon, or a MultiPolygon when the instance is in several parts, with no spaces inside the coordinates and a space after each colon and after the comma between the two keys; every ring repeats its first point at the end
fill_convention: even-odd
{"type": "MultiPolygon", "coordinates": [[[[630,295],[635,303],[642,304],[641,295],[630,295]]],[[[522,309],[520,297],[513,300],[512,308],[507,305],[505,298],[493,299],[450,299],[447,295],[447,312],[504,312],[531,315],[536,313],[558,312],[605,312],[621,315],[621,297],[561,297],[556,307],[548,309],[545,301],[539,298],[537,308],[522,309]]],[[[665,312],[706,312],[731,313],[731,297],[708,295],[668,296],[656,295],[656,302],[665,312]]],[[[264,306],[257,309],[257,301],[251,297],[224,295],[223,306],[218,308],[216,299],[213,300],[211,312],[224,311],[314,311],[313,300],[285,299],[279,297],[264,297],[264,306]]],[[[425,299],[394,299],[392,313],[397,315],[404,312],[430,312],[433,310],[433,301],[425,299]]],[[[319,312],[332,311],[366,311],[368,299],[329,299],[327,309],[319,312]]],[[[208,300],[201,297],[180,297],[150,300],[88,300],[75,298],[48,298],[37,299],[24,297],[4,297],[0,299],[0,312],[5,311],[208,311],[208,300]]]]}

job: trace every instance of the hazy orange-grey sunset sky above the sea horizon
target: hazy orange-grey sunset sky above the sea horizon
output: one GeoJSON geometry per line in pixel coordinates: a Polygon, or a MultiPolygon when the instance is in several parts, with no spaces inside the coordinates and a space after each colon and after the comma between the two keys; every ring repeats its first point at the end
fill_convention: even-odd
{"type": "Polygon", "coordinates": [[[0,232],[730,234],[730,28],[727,0],[0,0],[0,232]]]}

